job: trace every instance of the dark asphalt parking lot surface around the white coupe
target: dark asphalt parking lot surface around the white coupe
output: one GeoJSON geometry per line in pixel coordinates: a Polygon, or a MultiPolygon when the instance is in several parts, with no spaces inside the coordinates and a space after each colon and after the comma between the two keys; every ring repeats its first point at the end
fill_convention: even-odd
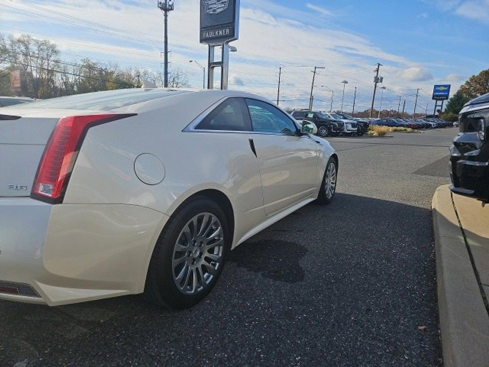
{"type": "Polygon", "coordinates": [[[456,132],[331,138],[334,202],[239,246],[193,309],[0,301],[0,366],[441,366],[429,208],[456,132]]]}

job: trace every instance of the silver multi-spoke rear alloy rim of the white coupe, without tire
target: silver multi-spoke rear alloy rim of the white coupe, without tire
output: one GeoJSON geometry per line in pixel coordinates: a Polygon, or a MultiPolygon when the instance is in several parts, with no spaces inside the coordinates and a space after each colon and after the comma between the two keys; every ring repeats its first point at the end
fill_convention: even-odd
{"type": "Polygon", "coordinates": [[[172,274],[178,290],[195,295],[205,289],[222,266],[224,233],[219,219],[200,213],[178,235],[173,251],[172,274]]]}

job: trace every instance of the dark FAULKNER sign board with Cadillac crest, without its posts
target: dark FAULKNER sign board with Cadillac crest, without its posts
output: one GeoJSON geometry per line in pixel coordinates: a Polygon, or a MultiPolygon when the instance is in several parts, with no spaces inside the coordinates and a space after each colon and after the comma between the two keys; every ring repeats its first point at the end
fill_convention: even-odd
{"type": "Polygon", "coordinates": [[[200,0],[200,43],[222,44],[238,39],[239,0],[200,0]]]}

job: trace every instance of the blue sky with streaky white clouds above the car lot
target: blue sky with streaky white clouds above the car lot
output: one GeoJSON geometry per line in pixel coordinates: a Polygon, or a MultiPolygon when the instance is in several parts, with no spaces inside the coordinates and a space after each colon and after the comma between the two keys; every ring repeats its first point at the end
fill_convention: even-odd
{"type": "MultiPolygon", "coordinates": [[[[156,0],[0,0],[0,33],[30,34],[55,43],[64,60],[90,57],[121,67],[162,71],[163,16],[156,0]]],[[[207,63],[199,43],[199,1],[175,0],[168,24],[170,68],[180,68],[193,88],[207,63]]],[[[312,72],[314,109],[370,108],[374,69],[384,90],[375,108],[412,113],[433,109],[434,84],[451,94],[488,69],[489,0],[241,0],[240,37],[232,43],[229,89],[306,108],[312,72]],[[348,84],[342,84],[342,81],[348,84]],[[382,97],[382,101],[380,101],[382,97]]]]}

